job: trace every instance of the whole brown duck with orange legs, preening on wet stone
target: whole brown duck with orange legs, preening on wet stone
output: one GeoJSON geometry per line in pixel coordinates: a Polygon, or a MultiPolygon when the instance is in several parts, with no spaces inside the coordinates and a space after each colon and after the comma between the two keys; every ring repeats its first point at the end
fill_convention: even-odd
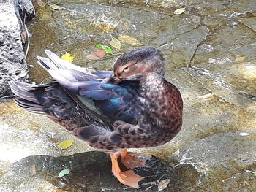
{"type": "Polygon", "coordinates": [[[118,181],[139,188],[144,177],[133,169],[145,166],[148,155],[127,149],[163,145],[182,126],[181,93],[165,80],[162,53],[154,47],[139,47],[119,56],[113,70],[98,72],[71,64],[50,50],[45,53],[48,58],[37,56],[37,63],[53,82],[9,82],[17,96],[15,103],[109,153],[118,181]]]}

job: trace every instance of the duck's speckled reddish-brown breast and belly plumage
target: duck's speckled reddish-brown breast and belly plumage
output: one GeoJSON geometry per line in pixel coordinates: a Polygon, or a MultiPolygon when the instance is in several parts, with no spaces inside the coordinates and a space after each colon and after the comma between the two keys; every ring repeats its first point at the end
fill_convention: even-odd
{"type": "MultiPolygon", "coordinates": [[[[165,144],[178,134],[182,125],[181,94],[165,79],[152,79],[154,82],[148,80],[141,85],[140,96],[132,104],[140,107],[142,111],[137,117],[137,125],[116,121],[113,123],[114,130],[108,135],[86,139],[89,145],[100,150],[154,147],[165,144]],[[154,83],[157,86],[152,88],[154,83]]],[[[75,130],[75,134],[84,139],[83,133],[88,135],[86,129],[79,128],[75,130]]]]}

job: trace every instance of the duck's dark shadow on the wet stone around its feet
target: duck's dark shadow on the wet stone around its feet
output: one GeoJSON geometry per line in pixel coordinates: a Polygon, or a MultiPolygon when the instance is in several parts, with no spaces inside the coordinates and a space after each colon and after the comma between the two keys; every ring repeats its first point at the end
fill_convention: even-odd
{"type": "MultiPolygon", "coordinates": [[[[159,180],[170,179],[167,188],[173,189],[174,185],[181,184],[176,177],[186,180],[186,177],[178,172],[193,168],[184,164],[178,168],[181,169],[178,171],[173,169],[170,164],[164,165],[158,158],[153,158],[152,161],[148,162],[147,169],[136,169],[135,172],[146,177],[146,180],[140,182],[142,184],[140,188],[143,191],[146,188],[150,188],[150,191],[158,191],[159,180]]],[[[195,173],[195,170],[192,172],[195,173]]],[[[199,175],[196,177],[199,178],[199,175]]],[[[1,179],[10,185],[15,183],[16,187],[28,185],[28,182],[31,183],[33,180],[44,180],[64,191],[138,191],[119,183],[111,172],[111,161],[108,154],[98,151],[61,157],[29,156],[12,164],[10,171],[1,179]],[[59,172],[63,169],[69,169],[69,174],[58,177],[59,172]]],[[[190,184],[195,187],[195,182],[190,184]]]]}

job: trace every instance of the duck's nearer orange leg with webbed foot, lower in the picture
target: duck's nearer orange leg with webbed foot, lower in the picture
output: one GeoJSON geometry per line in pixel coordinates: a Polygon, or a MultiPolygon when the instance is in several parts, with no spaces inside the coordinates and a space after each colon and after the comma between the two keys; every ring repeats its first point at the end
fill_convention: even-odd
{"type": "Polygon", "coordinates": [[[139,182],[143,180],[143,177],[135,174],[132,170],[128,170],[125,172],[121,172],[121,169],[118,165],[118,158],[120,157],[120,153],[110,153],[110,158],[112,161],[112,172],[118,179],[120,183],[127,185],[131,188],[138,188],[139,182]]]}

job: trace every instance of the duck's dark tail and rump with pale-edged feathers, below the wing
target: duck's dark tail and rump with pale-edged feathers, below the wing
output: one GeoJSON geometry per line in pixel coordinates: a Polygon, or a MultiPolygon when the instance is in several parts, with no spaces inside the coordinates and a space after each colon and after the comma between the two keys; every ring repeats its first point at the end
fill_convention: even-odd
{"type": "MultiPolygon", "coordinates": [[[[45,115],[51,120],[64,126],[69,131],[76,128],[89,126],[95,122],[97,115],[92,118],[94,113],[83,110],[72,99],[67,91],[58,82],[50,82],[44,85],[31,85],[26,82],[9,82],[12,92],[18,98],[15,103],[28,112],[45,115]]],[[[94,111],[93,111],[94,112],[94,111]]],[[[110,128],[110,126],[99,126],[100,130],[110,128]],[[101,127],[101,128],[100,128],[101,127]]],[[[97,131],[97,130],[96,130],[97,131]]]]}

